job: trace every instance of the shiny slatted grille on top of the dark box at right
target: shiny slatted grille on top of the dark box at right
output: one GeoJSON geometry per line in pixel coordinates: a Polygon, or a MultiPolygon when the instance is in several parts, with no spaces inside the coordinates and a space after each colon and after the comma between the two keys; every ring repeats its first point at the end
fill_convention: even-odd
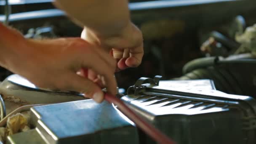
{"type": "MultiPolygon", "coordinates": [[[[131,99],[130,99],[131,100],[131,99]]],[[[186,114],[194,115],[207,112],[227,110],[229,105],[215,104],[203,101],[166,98],[160,96],[137,96],[130,104],[155,115],[186,114]]]]}

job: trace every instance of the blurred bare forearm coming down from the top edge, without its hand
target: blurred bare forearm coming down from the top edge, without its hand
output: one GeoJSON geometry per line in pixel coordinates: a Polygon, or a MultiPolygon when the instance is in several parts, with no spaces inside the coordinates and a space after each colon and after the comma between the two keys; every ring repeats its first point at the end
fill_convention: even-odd
{"type": "Polygon", "coordinates": [[[130,24],[128,0],[55,0],[80,26],[104,36],[119,35],[130,24]]]}

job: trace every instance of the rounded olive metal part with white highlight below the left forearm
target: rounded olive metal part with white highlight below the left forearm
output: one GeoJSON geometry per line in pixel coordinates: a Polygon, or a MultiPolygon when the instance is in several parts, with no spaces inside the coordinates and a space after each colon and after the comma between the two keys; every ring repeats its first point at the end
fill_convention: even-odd
{"type": "Polygon", "coordinates": [[[11,75],[0,83],[0,91],[3,96],[14,96],[20,101],[28,104],[51,104],[66,101],[76,101],[85,99],[77,92],[51,91],[37,88],[24,77],[11,75]]]}

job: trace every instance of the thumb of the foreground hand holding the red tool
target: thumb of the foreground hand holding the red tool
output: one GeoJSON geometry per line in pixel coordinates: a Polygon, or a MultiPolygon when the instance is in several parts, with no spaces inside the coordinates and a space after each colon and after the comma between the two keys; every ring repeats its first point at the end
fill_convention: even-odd
{"type": "Polygon", "coordinates": [[[68,75],[72,77],[70,87],[72,90],[84,93],[86,97],[94,99],[94,101],[100,103],[104,100],[104,93],[101,91],[101,88],[93,83],[91,80],[87,78],[80,77],[72,72],[68,75]]]}

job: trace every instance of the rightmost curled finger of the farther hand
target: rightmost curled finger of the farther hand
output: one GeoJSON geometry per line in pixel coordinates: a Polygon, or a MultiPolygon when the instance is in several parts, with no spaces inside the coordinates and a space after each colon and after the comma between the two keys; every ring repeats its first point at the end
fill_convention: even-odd
{"type": "Polygon", "coordinates": [[[144,55],[143,43],[137,48],[130,49],[130,58],[126,59],[125,64],[128,67],[138,67],[141,64],[144,55]]]}

